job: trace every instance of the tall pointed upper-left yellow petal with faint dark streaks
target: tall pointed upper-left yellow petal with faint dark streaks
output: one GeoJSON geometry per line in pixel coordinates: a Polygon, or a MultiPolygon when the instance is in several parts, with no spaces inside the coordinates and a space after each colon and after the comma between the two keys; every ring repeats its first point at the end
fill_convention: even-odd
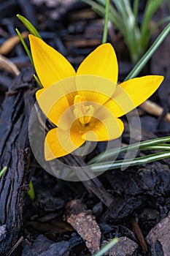
{"type": "Polygon", "coordinates": [[[29,35],[34,66],[42,86],[48,87],[58,80],[75,75],[74,68],[61,53],[42,39],[29,35]]]}

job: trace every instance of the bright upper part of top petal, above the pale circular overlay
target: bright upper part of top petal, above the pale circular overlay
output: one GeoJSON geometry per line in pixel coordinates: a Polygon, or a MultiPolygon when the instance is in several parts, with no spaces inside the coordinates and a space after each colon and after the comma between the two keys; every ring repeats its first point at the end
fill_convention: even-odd
{"type": "Polygon", "coordinates": [[[93,50],[80,64],[77,75],[98,75],[117,83],[118,64],[112,45],[106,43],[93,50]]]}

